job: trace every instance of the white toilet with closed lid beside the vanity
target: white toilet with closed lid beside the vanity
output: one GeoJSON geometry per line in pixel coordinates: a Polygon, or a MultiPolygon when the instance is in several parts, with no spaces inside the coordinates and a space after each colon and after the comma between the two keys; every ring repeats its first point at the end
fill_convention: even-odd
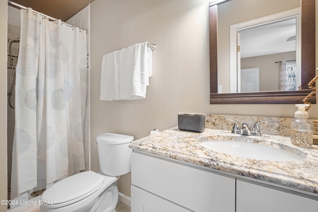
{"type": "Polygon", "coordinates": [[[116,181],[131,171],[132,136],[105,133],[96,138],[100,172],[69,176],[41,196],[41,212],[115,212],[116,181]]]}

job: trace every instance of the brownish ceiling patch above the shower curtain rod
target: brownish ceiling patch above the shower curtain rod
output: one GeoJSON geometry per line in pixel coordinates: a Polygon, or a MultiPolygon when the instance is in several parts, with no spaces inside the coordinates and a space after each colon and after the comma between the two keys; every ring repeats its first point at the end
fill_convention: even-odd
{"type": "Polygon", "coordinates": [[[66,21],[94,0],[12,0],[25,7],[66,21]]]}

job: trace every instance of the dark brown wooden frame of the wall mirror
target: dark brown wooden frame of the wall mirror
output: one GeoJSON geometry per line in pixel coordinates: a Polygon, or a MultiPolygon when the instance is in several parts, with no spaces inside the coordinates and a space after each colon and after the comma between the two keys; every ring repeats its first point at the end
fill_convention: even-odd
{"type": "MultiPolygon", "coordinates": [[[[302,0],[302,88],[293,91],[262,91],[245,93],[218,93],[217,4],[210,6],[210,104],[296,104],[312,90],[308,83],[315,77],[316,37],[315,0],[302,0]]],[[[316,96],[309,100],[316,104],[316,96]]]]}

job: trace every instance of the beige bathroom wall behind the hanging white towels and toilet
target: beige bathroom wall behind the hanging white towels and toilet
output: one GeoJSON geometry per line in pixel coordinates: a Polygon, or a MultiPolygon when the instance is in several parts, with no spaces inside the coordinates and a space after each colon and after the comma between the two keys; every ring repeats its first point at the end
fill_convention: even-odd
{"type": "MultiPolygon", "coordinates": [[[[276,0],[270,4],[279,12],[276,0]]],[[[140,139],[154,128],[176,126],[178,112],[294,115],[294,105],[210,105],[208,30],[208,0],[95,0],[91,4],[92,170],[99,170],[93,145],[98,134],[113,132],[140,139]],[[157,45],[147,98],[100,101],[102,56],[144,41],[157,45]]],[[[316,105],[310,116],[318,118],[316,105]]],[[[120,179],[118,187],[130,196],[129,174],[120,179]]]]}

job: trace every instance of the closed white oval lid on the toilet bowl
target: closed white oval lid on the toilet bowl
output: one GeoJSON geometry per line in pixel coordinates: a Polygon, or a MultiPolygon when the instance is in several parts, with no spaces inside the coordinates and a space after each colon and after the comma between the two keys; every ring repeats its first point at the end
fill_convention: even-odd
{"type": "Polygon", "coordinates": [[[81,172],[55,183],[42,194],[41,199],[57,205],[85,198],[101,187],[103,179],[102,175],[93,171],[81,172]]]}

